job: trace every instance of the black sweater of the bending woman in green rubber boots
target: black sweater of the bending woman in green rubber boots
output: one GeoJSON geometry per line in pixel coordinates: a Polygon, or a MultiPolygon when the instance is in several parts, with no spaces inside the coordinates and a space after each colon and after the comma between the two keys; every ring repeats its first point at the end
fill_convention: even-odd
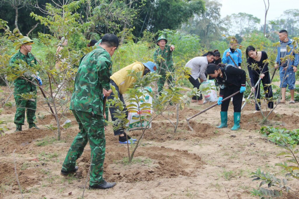
{"type": "Polygon", "coordinates": [[[220,85],[219,97],[223,97],[225,87],[235,85],[237,87],[246,85],[246,72],[242,69],[236,68],[232,65],[225,65],[225,67],[219,67],[223,77],[216,77],[216,81],[220,85]]]}

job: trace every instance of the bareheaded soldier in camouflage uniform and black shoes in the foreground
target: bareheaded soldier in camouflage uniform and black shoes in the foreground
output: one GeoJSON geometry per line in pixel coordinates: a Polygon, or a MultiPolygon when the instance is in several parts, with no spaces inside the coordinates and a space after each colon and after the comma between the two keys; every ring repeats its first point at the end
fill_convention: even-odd
{"type": "Polygon", "coordinates": [[[67,176],[78,170],[76,160],[82,155],[89,141],[92,156],[90,189],[109,189],[116,184],[102,178],[106,145],[103,96],[109,96],[112,92],[109,84],[111,56],[118,45],[115,35],[106,34],[99,48],[81,58],[71,97],[70,109],[78,122],[80,132],[68,150],[60,174],[67,176]]]}

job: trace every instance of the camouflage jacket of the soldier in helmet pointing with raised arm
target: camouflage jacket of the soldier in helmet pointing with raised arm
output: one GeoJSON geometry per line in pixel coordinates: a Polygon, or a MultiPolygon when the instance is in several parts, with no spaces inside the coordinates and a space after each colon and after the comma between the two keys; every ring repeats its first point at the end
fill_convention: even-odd
{"type": "Polygon", "coordinates": [[[170,51],[170,46],[165,46],[164,50],[161,50],[159,47],[155,50],[154,60],[158,66],[158,72],[160,75],[166,74],[166,71],[173,71],[173,61],[172,61],[172,52],[170,51]],[[161,56],[163,59],[158,59],[158,56],[161,56]]]}

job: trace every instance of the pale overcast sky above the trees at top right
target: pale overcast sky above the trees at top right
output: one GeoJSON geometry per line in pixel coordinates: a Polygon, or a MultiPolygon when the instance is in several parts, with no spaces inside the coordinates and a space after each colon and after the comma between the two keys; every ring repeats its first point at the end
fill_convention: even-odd
{"type": "MultiPolygon", "coordinates": [[[[265,20],[265,4],[263,0],[218,0],[221,4],[221,18],[233,13],[248,13],[261,20],[265,20]]],[[[266,0],[267,1],[267,0],[266,0]]],[[[268,20],[275,20],[283,14],[284,10],[299,9],[298,0],[269,0],[270,7],[267,14],[268,20]]],[[[266,2],[268,4],[268,2],[266,2]]]]}

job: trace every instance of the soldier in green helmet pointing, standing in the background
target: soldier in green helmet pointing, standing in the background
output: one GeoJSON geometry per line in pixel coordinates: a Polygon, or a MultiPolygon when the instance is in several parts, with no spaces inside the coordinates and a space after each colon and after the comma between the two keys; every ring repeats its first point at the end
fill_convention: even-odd
{"type": "MultiPolygon", "coordinates": [[[[162,77],[158,80],[158,92],[160,93],[163,90],[164,83],[166,81],[166,72],[173,72],[173,61],[172,61],[172,52],[174,50],[174,45],[166,45],[167,39],[165,36],[160,36],[157,40],[157,45],[159,48],[155,50],[154,60],[158,66],[159,75],[162,77]],[[162,58],[159,58],[161,56],[162,58]]],[[[171,85],[173,82],[172,76],[169,76],[168,85],[171,85]]]]}

